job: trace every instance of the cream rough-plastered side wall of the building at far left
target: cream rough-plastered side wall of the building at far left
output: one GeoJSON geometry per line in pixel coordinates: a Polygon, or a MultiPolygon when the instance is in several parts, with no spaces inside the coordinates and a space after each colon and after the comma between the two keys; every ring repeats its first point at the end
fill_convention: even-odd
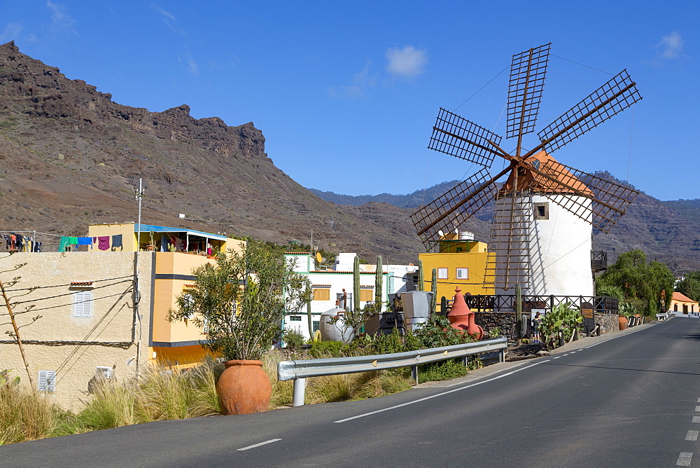
{"type": "MultiPolygon", "coordinates": [[[[132,280],[133,252],[45,252],[15,254],[0,259],[0,271],[18,263],[27,263],[16,273],[0,275],[3,282],[21,276],[18,284],[7,289],[39,286],[27,296],[18,298],[22,305],[14,308],[22,312],[27,305],[35,307],[18,317],[26,324],[30,317],[41,315],[34,324],[22,328],[25,352],[34,385],[38,371],[56,372],[56,391],[50,399],[63,408],[78,410],[80,400],[87,401],[87,383],[95,375],[97,366],[115,366],[119,382],[136,376],[137,344],[132,343],[134,310],[132,280]],[[73,317],[73,293],[84,289],[71,288],[69,283],[92,281],[92,317],[73,317]],[[32,340],[41,343],[33,343],[32,340]],[[47,343],[48,341],[52,343],[47,343]],[[77,341],[111,342],[80,344],[77,341]],[[67,343],[66,343],[67,342],[67,343]]],[[[139,261],[141,276],[142,345],[141,363],[148,360],[148,326],[151,310],[151,257],[142,253],[139,261]]],[[[18,294],[25,291],[10,291],[18,294]]],[[[0,323],[8,322],[6,308],[0,308],[0,323]]],[[[0,326],[0,366],[13,369],[12,376],[20,376],[22,385],[28,385],[20,352],[16,343],[8,343],[3,332],[11,326],[0,326]]],[[[137,327],[136,339],[139,339],[137,327]]]]}

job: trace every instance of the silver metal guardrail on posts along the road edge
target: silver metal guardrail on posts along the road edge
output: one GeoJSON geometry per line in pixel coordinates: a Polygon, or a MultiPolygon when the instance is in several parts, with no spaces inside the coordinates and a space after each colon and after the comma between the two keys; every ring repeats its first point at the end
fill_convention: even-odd
{"type": "Polygon", "coordinates": [[[394,352],[388,355],[357,357],[333,357],[330,359],[300,359],[282,361],[277,364],[277,380],[294,380],[293,406],[304,404],[306,378],[318,376],[335,376],[344,373],[381,371],[411,367],[412,377],[418,383],[418,365],[428,362],[444,361],[455,357],[479,355],[483,352],[500,351],[500,362],[505,361],[507,349],[505,336],[493,340],[465,343],[463,345],[431,347],[427,350],[394,352]]]}

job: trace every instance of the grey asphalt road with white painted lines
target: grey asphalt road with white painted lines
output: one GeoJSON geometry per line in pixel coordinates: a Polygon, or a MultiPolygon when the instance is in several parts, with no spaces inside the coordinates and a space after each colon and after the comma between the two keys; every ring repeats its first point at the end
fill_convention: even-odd
{"type": "Polygon", "coordinates": [[[700,320],[584,338],[442,387],[0,447],[6,466],[700,467],[700,320]]]}

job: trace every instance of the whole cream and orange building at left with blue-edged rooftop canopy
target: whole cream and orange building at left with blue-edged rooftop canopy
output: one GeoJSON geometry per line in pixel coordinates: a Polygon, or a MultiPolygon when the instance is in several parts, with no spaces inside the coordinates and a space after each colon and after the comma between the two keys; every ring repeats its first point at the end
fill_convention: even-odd
{"type": "MultiPolygon", "coordinates": [[[[216,261],[207,249],[239,251],[244,242],[195,230],[142,228],[148,230],[141,233],[139,252],[138,227],[125,223],[90,226],[90,237],[102,238],[103,247],[105,238],[113,245],[112,236],[121,236],[116,238],[122,244],[117,252],[113,247],[101,251],[98,240],[91,246],[97,248],[88,252],[20,252],[0,258],[0,271],[25,264],[17,274],[1,279],[21,276],[6,289],[10,297],[26,293],[18,298],[15,312],[29,310],[18,315],[18,322],[27,324],[21,337],[34,387],[64,408],[79,409],[96,376],[123,382],[144,372],[148,364],[187,367],[204,357],[201,330],[190,320],[168,322],[168,311],[194,284],[193,268],[216,261]],[[151,232],[156,242],[158,236],[168,242],[183,239],[190,251],[171,252],[168,242],[161,244],[165,251],[151,251],[151,232]]],[[[18,345],[3,333],[12,330],[3,305],[0,369],[13,369],[12,376],[20,376],[27,385],[18,345]]]]}

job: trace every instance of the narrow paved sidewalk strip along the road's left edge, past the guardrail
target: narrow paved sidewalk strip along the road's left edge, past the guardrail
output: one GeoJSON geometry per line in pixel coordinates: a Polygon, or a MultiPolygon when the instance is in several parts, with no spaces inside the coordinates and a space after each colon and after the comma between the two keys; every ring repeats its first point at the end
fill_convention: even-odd
{"type": "MultiPolygon", "coordinates": [[[[557,347],[554,350],[550,351],[550,355],[556,355],[561,352],[568,352],[571,350],[579,350],[582,347],[587,347],[590,345],[594,345],[596,343],[601,343],[602,341],[605,340],[610,340],[610,338],[615,338],[617,336],[622,336],[627,333],[634,333],[636,331],[640,331],[642,329],[649,328],[650,326],[654,326],[659,322],[651,322],[643,325],[637,325],[633,326],[631,328],[622,330],[622,331],[613,331],[612,333],[603,333],[601,336],[591,336],[590,338],[580,338],[577,341],[572,341],[570,343],[566,343],[566,345],[563,345],[561,347],[557,347]]],[[[440,380],[437,382],[426,382],[426,383],[419,383],[418,385],[414,385],[414,388],[431,388],[431,387],[454,387],[456,385],[460,385],[463,383],[470,383],[474,380],[479,380],[482,378],[490,377],[493,376],[496,373],[500,372],[505,372],[509,371],[510,369],[515,369],[517,367],[521,366],[529,366],[531,364],[534,364],[535,362],[538,362],[540,359],[547,359],[548,356],[542,356],[542,357],[535,357],[532,359],[522,359],[521,361],[515,361],[515,362],[497,362],[496,364],[491,364],[490,366],[482,367],[482,369],[476,369],[474,371],[469,371],[469,373],[466,376],[463,377],[458,377],[454,378],[451,380],[440,380]]]]}

